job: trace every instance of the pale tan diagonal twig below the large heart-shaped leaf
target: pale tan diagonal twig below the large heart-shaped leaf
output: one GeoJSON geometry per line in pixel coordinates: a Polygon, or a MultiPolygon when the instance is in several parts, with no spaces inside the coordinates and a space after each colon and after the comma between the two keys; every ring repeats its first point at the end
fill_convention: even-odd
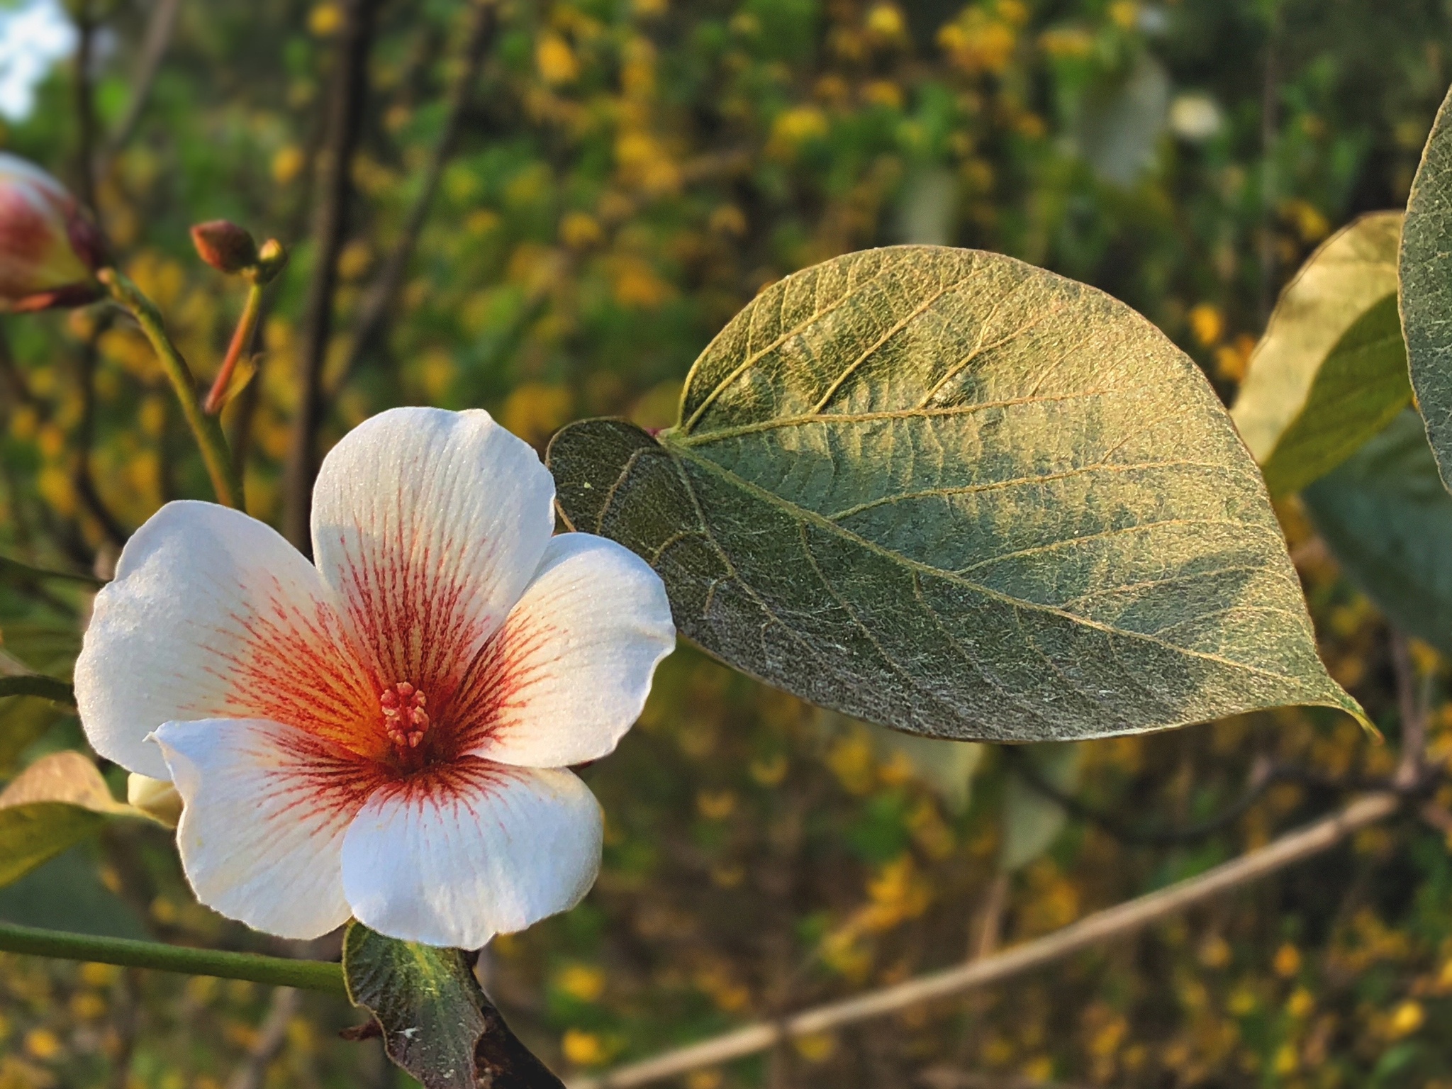
{"type": "Polygon", "coordinates": [[[1397,812],[1401,799],[1392,793],[1371,794],[1314,825],[1289,832],[1240,858],[1223,862],[1198,877],[1178,881],[1159,892],[1085,916],[1043,938],[970,961],[961,967],[919,976],[890,987],[831,1002],[815,1009],[756,1022],[733,1032],[668,1051],[655,1059],[620,1067],[600,1077],[581,1077],[569,1089],[627,1089],[675,1077],[690,1070],[765,1051],[784,1040],[813,1035],[896,1013],[934,999],[960,995],[973,987],[999,983],[1024,971],[1043,967],[1111,938],[1124,938],[1192,905],[1239,889],[1304,858],[1330,849],[1353,832],[1397,812]]]}

